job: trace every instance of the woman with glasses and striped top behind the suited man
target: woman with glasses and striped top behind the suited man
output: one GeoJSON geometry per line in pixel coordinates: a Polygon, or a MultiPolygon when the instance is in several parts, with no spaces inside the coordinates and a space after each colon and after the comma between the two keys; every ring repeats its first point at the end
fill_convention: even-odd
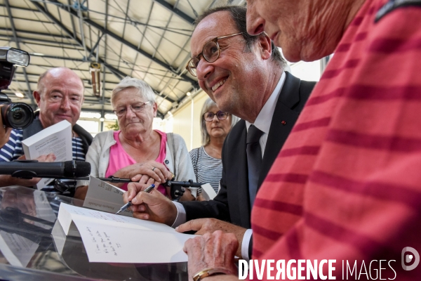
{"type": "Polygon", "coordinates": [[[222,178],[222,145],[239,117],[223,112],[208,98],[200,113],[202,146],[190,151],[194,174],[199,183],[209,183],[218,193],[222,178]]]}

